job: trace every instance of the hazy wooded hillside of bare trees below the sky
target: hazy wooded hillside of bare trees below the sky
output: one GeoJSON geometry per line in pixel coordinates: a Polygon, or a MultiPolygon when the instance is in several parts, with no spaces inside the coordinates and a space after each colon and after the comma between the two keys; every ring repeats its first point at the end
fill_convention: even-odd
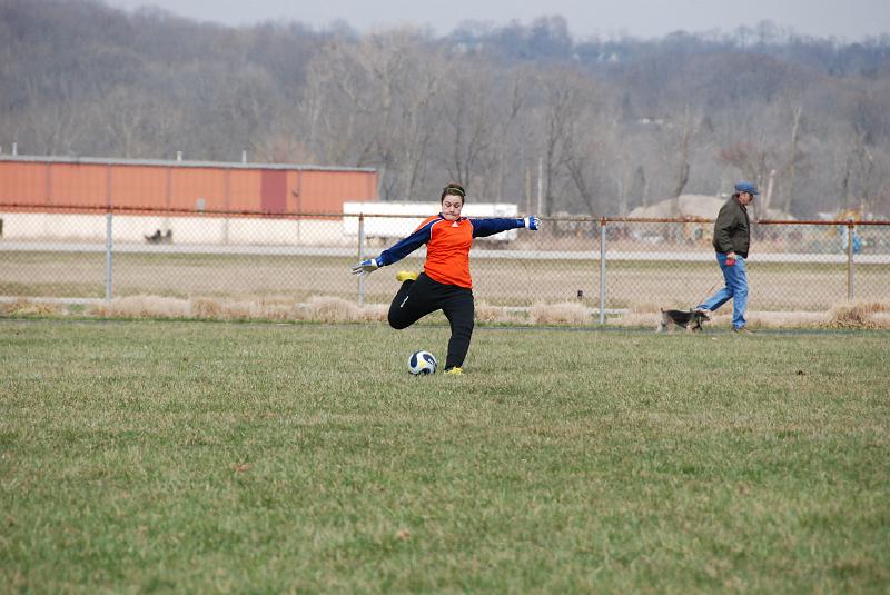
{"type": "MultiPolygon", "coordinates": [[[[576,40],[562,17],[359,34],[0,0],[0,148],[373,167],[385,200],[623,215],[745,178],[798,217],[890,216],[890,36],[770,22],[576,40]]],[[[765,198],[765,197],[764,197],[765,198]]]]}

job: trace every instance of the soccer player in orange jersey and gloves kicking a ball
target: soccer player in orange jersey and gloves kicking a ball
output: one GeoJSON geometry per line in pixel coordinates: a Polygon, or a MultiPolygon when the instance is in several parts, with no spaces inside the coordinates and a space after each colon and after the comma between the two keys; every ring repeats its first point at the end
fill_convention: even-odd
{"type": "Polygon", "coordinates": [[[461,217],[466,192],[458,184],[442,190],[442,212],[427,217],[414,232],[380,252],[353,266],[353,275],[367,275],[402,260],[426,244],[426,261],[419,275],[398,271],[402,281],[389,306],[389,326],[407,328],[427,314],[442,310],[451,325],[445,374],[463,374],[462,366],[473,336],[473,280],[469,277],[469,248],[473,238],[493,236],[508,229],[538,227],[537,217],[523,219],[461,217]]]}

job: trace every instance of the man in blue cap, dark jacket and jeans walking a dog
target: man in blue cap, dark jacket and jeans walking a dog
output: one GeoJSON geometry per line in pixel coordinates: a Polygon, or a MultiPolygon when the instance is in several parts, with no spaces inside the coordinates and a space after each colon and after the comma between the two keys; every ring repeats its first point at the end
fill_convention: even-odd
{"type": "Polygon", "coordinates": [[[751,245],[748,205],[759,194],[753,184],[740,181],[735,185],[735,194],[720,208],[714,222],[713,245],[725,287],[695,308],[713,311],[732,299],[733,333],[751,333],[745,328],[748,320],[744,318],[748,308],[748,275],[744,261],[751,245]]]}

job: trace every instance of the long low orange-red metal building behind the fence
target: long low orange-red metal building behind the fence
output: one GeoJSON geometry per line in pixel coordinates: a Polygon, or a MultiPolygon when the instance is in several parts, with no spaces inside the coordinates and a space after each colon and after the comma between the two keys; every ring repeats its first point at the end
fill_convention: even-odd
{"type": "Polygon", "coordinates": [[[342,214],[377,172],[273,163],[0,156],[0,206],[342,214]]]}

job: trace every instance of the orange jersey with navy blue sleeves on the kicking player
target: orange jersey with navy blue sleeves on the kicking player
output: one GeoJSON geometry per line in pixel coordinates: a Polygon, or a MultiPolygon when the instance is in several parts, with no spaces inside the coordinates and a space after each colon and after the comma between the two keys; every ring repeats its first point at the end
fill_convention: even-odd
{"type": "Polygon", "coordinates": [[[493,236],[508,229],[525,227],[525,219],[461,217],[448,221],[442,214],[427,217],[414,232],[380,252],[377,265],[397,262],[426,244],[426,276],[445,285],[473,288],[469,277],[469,248],[473,238],[493,236]]]}

